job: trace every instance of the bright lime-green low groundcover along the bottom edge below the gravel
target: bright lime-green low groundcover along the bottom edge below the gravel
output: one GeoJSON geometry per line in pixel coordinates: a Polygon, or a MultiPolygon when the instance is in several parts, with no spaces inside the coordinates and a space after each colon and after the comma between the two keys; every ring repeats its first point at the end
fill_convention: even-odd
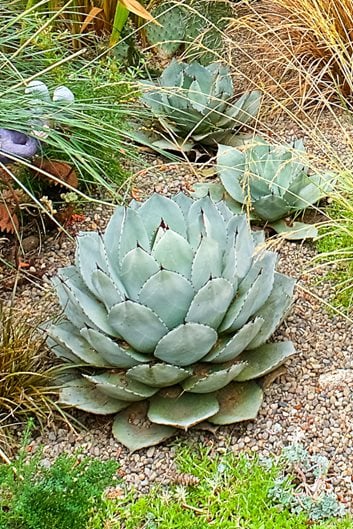
{"type": "MultiPolygon", "coordinates": [[[[269,458],[264,467],[256,456],[219,455],[192,446],[177,450],[178,471],[168,486],[148,495],[129,494],[106,501],[88,529],[350,529],[352,519],[310,520],[306,511],[294,513],[270,498],[283,461],[269,458]]],[[[293,492],[295,492],[294,485],[293,492]]]]}

